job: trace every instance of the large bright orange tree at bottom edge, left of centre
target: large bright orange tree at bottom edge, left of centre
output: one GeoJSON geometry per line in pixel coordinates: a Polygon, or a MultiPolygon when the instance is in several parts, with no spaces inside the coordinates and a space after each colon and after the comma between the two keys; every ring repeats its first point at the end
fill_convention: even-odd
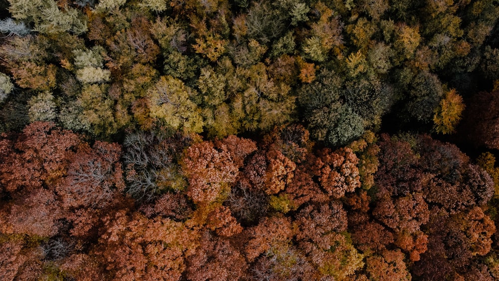
{"type": "Polygon", "coordinates": [[[104,223],[91,255],[105,266],[109,280],[180,280],[185,256],[195,253],[195,232],[170,219],[118,210],[104,223]]]}

